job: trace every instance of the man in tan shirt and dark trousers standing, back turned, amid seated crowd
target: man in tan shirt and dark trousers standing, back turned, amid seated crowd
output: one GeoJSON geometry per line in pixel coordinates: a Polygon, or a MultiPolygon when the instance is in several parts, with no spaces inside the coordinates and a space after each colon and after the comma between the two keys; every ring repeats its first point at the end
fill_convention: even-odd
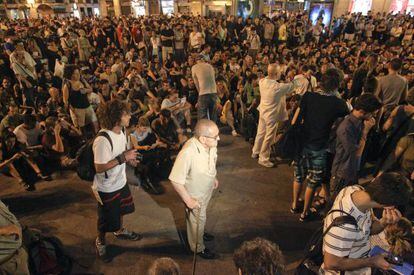
{"type": "Polygon", "coordinates": [[[217,121],[217,86],[213,66],[205,62],[204,56],[199,54],[191,73],[198,91],[198,120],[207,118],[217,121]]]}

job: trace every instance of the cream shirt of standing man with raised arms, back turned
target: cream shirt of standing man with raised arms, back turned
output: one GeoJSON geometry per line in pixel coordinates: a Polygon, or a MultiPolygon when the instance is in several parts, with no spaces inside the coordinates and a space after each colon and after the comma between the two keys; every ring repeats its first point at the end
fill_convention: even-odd
{"type": "Polygon", "coordinates": [[[295,87],[293,83],[279,83],[268,77],[260,79],[260,116],[271,121],[287,120],[286,95],[292,93],[295,87]]]}

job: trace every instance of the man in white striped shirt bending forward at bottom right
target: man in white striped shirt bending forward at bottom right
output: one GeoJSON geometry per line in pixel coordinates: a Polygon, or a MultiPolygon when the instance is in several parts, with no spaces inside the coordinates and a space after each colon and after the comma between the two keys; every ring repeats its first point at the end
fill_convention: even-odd
{"type": "MultiPolygon", "coordinates": [[[[380,233],[385,226],[396,223],[401,213],[396,206],[406,205],[411,196],[408,180],[397,173],[385,173],[364,185],[353,185],[341,190],[332,210],[342,210],[357,221],[332,227],[323,239],[324,262],[320,274],[369,275],[371,268],[387,270],[390,264],[382,255],[368,257],[371,250],[369,236],[380,233]],[[373,215],[373,208],[383,208],[382,218],[373,215]]],[[[324,221],[324,230],[342,212],[332,212],[324,221]]]]}

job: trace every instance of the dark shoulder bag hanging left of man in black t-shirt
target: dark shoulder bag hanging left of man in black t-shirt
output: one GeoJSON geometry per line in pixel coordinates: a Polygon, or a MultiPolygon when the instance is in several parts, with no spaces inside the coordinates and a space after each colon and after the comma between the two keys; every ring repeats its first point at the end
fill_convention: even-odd
{"type": "Polygon", "coordinates": [[[302,152],[303,124],[298,122],[298,120],[300,121],[300,116],[300,108],[297,108],[292,124],[282,134],[275,146],[276,154],[283,159],[293,160],[302,152]]]}

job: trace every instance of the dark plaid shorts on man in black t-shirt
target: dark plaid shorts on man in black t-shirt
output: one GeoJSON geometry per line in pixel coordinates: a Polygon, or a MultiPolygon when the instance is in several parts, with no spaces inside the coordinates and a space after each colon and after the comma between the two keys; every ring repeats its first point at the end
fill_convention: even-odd
{"type": "Polygon", "coordinates": [[[293,162],[295,181],[302,184],[307,180],[309,188],[316,188],[326,180],[326,149],[313,151],[304,148],[302,154],[293,162]]]}

